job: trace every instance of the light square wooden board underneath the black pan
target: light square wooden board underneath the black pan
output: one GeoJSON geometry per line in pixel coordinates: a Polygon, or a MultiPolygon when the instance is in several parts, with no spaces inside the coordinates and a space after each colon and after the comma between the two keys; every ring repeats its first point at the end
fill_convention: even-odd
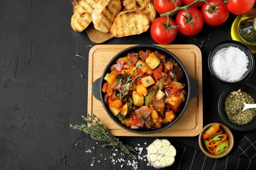
{"type": "Polygon", "coordinates": [[[200,49],[190,44],[168,44],[159,45],[175,54],[186,67],[188,74],[196,78],[199,83],[200,91],[196,98],[192,99],[188,104],[186,112],[181,119],[169,127],[158,133],[140,135],[132,133],[119,127],[106,113],[101,101],[98,101],[92,93],[93,82],[100,78],[104,68],[118,52],[127,48],[128,44],[120,45],[96,45],[89,52],[89,71],[88,71],[88,105],[87,113],[96,114],[98,118],[110,130],[112,135],[116,136],[158,136],[158,137],[178,137],[178,136],[196,136],[203,127],[203,103],[202,103],[202,54],[200,49]]]}

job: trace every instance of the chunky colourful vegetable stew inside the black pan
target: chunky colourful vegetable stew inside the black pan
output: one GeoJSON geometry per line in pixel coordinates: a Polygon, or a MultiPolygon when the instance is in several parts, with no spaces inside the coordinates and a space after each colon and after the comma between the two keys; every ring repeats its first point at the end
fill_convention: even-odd
{"type": "Polygon", "coordinates": [[[160,128],[185,101],[183,76],[179,65],[158,51],[130,52],[104,76],[104,102],[127,127],[160,128]]]}

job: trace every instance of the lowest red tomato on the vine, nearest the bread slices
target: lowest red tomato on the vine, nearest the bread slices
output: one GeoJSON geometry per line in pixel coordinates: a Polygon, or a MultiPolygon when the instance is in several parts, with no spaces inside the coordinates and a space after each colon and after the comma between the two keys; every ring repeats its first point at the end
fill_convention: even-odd
{"type": "Polygon", "coordinates": [[[169,18],[167,24],[167,17],[161,16],[156,18],[150,27],[150,35],[152,39],[159,44],[169,44],[177,37],[177,26],[173,19],[169,18]]]}

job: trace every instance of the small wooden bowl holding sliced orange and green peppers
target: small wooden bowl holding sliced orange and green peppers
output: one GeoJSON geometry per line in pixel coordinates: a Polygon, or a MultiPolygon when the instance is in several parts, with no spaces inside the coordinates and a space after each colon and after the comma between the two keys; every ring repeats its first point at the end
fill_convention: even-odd
{"type": "Polygon", "coordinates": [[[198,143],[206,156],[222,158],[232,150],[234,137],[228,127],[219,123],[211,123],[203,127],[198,143]]]}

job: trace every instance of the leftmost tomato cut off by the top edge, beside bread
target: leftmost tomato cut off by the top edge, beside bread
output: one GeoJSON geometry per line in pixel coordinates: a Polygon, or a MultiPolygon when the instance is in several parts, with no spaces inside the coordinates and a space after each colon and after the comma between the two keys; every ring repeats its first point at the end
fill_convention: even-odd
{"type": "MultiPolygon", "coordinates": [[[[176,5],[178,7],[181,7],[182,1],[181,0],[175,0],[176,5]]],[[[156,11],[158,11],[159,14],[163,14],[165,12],[169,12],[173,9],[175,9],[175,4],[173,3],[173,0],[155,0],[154,6],[156,11]]],[[[175,12],[177,13],[177,12],[175,12]]],[[[175,14],[173,13],[173,14],[175,14]]]]}

